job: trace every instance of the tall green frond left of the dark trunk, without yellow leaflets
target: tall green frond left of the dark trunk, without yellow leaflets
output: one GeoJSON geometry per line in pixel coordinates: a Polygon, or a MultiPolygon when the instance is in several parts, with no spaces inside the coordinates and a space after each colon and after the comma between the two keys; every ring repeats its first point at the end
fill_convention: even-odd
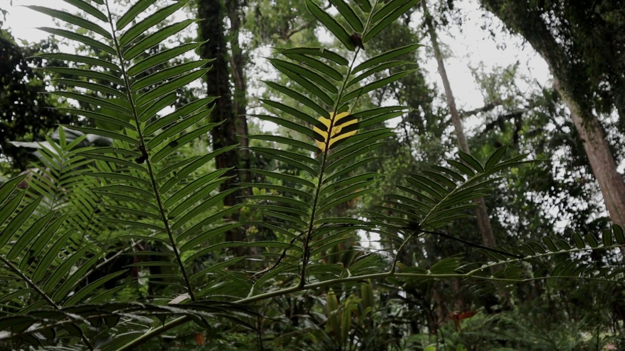
{"type": "MultiPolygon", "coordinates": [[[[76,3],[79,4],[79,8],[91,6],[83,1],[76,3]]],[[[139,56],[146,49],[160,44],[160,40],[176,34],[192,23],[192,21],[183,21],[160,29],[156,28],[160,22],[184,6],[184,2],[175,2],[158,9],[133,25],[130,25],[131,19],[153,7],[150,2],[136,2],[117,22],[112,19],[108,2],[104,1],[103,5],[102,7],[89,7],[89,13],[94,14],[98,19],[106,18],[108,23],[103,26],[89,25],[84,22],[76,23],[72,21],[73,17],[69,14],[63,14],[59,18],[108,39],[99,41],[99,44],[92,47],[103,49],[104,46],[105,51],[114,59],[91,62],[88,58],[81,58],[81,56],[64,56],[64,58],[76,64],[91,62],[102,67],[101,71],[96,72],[80,67],[72,69],[75,76],[85,79],[85,82],[74,84],[74,86],[106,93],[103,87],[88,83],[89,79],[99,79],[122,94],[110,94],[114,96],[113,99],[79,93],[58,92],[58,94],[76,99],[81,106],[106,107],[99,109],[97,113],[88,109],[73,109],[74,113],[93,119],[96,123],[106,122],[98,128],[77,127],[78,130],[114,140],[114,147],[90,149],[81,152],[81,156],[109,165],[110,171],[96,173],[98,179],[103,180],[103,185],[93,189],[94,192],[103,195],[108,202],[111,202],[109,208],[113,206],[120,212],[126,210],[140,215],[143,219],[119,217],[106,217],[105,219],[115,225],[134,227],[139,232],[156,231],[168,237],[175,259],[174,262],[161,262],[161,264],[178,265],[184,276],[187,294],[194,300],[194,287],[189,280],[183,255],[198,242],[216,235],[221,229],[205,230],[204,227],[211,225],[211,222],[206,220],[191,228],[186,225],[206,210],[207,206],[199,202],[214,195],[214,190],[226,179],[222,175],[227,170],[210,172],[202,177],[194,175],[194,171],[210,161],[215,153],[211,157],[200,157],[191,164],[183,162],[170,165],[164,163],[163,160],[181,147],[205,136],[217,126],[217,124],[203,122],[212,111],[206,108],[207,103],[214,98],[190,102],[166,116],[157,114],[176,100],[176,91],[179,87],[204,76],[205,72],[210,69],[204,68],[209,60],[190,61],[152,74],[144,74],[202,44],[201,42],[183,44],[144,59],[139,56]],[[109,27],[109,29],[103,30],[104,27],[109,27]],[[151,31],[153,28],[156,30],[151,31]],[[198,125],[201,126],[197,127],[198,125]]],[[[50,12],[40,7],[35,9],[44,13],[50,12]]],[[[56,12],[54,13],[60,15],[56,12]]],[[[74,36],[70,39],[81,39],[79,41],[84,44],[94,44],[81,37],[74,36]]],[[[222,215],[226,214],[222,212],[222,215]]],[[[219,216],[212,217],[213,222],[220,219],[219,216]]],[[[221,226],[223,227],[224,225],[221,226]]],[[[156,236],[158,237],[158,234],[156,236]]],[[[153,234],[144,235],[145,240],[152,240],[154,237],[153,234]]]]}

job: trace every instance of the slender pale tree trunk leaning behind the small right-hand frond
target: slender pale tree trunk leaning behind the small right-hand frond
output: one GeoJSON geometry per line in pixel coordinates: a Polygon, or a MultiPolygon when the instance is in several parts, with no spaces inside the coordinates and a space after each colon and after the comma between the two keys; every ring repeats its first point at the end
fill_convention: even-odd
{"type": "MultiPolygon", "coordinates": [[[[451,86],[449,85],[449,79],[447,78],[447,71],[445,69],[445,64],[442,60],[441,50],[438,46],[436,29],[434,28],[434,24],[432,24],[432,16],[430,16],[429,11],[427,11],[426,0],[421,0],[421,6],[423,7],[427,31],[429,32],[429,36],[432,41],[434,57],[436,57],[436,62],[438,62],[438,72],[439,74],[441,74],[442,85],[445,88],[447,106],[449,107],[449,112],[451,113],[451,122],[452,124],[454,124],[454,130],[456,131],[458,146],[462,151],[467,152],[468,154],[470,153],[469,144],[467,143],[467,139],[464,136],[464,131],[462,129],[462,119],[460,118],[460,114],[456,108],[456,99],[454,99],[454,94],[451,92],[451,86]]],[[[486,247],[494,247],[496,245],[495,235],[492,232],[491,220],[489,219],[488,210],[486,209],[484,199],[480,197],[479,199],[474,200],[474,202],[477,204],[475,212],[477,216],[477,224],[479,225],[479,232],[482,235],[482,245],[486,247]]]]}

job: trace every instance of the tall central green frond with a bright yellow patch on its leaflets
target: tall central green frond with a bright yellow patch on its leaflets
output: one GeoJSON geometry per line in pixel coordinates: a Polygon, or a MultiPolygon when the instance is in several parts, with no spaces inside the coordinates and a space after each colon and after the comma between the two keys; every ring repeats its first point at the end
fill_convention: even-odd
{"type": "MultiPolygon", "coordinates": [[[[412,71],[407,62],[402,62],[406,69],[398,74],[376,80],[371,78],[373,72],[399,66],[390,64],[391,60],[416,50],[419,45],[402,47],[356,64],[362,61],[359,54],[364,47],[359,41],[363,33],[369,34],[373,25],[386,25],[372,21],[375,16],[373,7],[363,14],[364,4],[361,6],[365,7],[358,9],[345,1],[331,3],[339,10],[339,20],[327,14],[314,1],[307,0],[306,6],[347,50],[355,52],[344,56],[319,47],[278,49],[276,54],[284,59],[272,58],[269,62],[296,84],[266,84],[305,108],[296,109],[280,101],[261,99],[268,111],[279,114],[254,115],[295,132],[289,133],[291,135],[304,136],[303,140],[287,136],[249,136],[272,144],[270,147],[252,146],[252,152],[301,174],[297,177],[280,171],[252,170],[265,180],[262,183],[241,184],[264,189],[263,194],[251,196],[253,202],[250,206],[260,209],[267,219],[277,220],[273,224],[260,225],[290,240],[287,248],[266,252],[267,259],[278,259],[255,275],[261,277],[256,282],[256,289],[261,282],[267,281],[264,274],[289,277],[303,287],[312,280],[331,280],[369,272],[368,264],[360,266],[356,262],[354,269],[348,271],[341,265],[329,263],[329,257],[339,254],[332,253],[333,250],[352,240],[358,230],[374,230],[374,225],[369,222],[337,217],[336,212],[339,207],[374,191],[379,175],[361,172],[361,169],[375,159],[369,156],[371,151],[394,136],[391,129],[383,127],[384,122],[402,116],[409,109],[389,106],[356,111],[355,102],[358,96],[410,74],[412,71]],[[347,31],[341,23],[346,23],[354,32],[347,31]]],[[[394,18],[397,17],[399,14],[394,18]]]]}

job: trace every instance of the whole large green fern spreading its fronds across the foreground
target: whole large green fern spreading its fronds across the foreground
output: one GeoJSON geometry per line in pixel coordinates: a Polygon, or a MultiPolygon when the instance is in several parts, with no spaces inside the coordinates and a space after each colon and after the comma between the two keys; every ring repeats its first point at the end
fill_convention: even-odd
{"type": "Polygon", "coordinates": [[[41,54],[68,62],[47,67],[71,87],[54,94],[74,106],[63,112],[91,124],[60,126],[58,139],[39,152],[43,166],[0,187],[0,339],[11,347],[134,350],[176,327],[216,333],[225,322],[256,333],[272,313],[264,306],[297,299],[326,307],[317,335],[340,348],[365,342],[377,282],[404,287],[458,279],[505,295],[512,284],[531,280],[622,281],[621,267],[596,267],[579,255],[625,244],[616,225],[571,240],[472,244],[484,254],[479,264],[457,256],[431,267],[399,262],[407,244],[446,235],[441,227],[467,217],[472,200],[489,194],[501,172],[528,162],[526,156],[503,159],[505,147],[483,161],[459,152],[446,164],[406,175],[409,185],[386,194],[366,217],[337,215],[342,204],[376,191],[380,175],[366,171],[376,160],[371,151],[394,136],[385,122],[410,109],[357,108],[359,97],[411,74],[411,62],[398,57],[419,49],[412,43],[368,57],[367,42],[418,0],[331,0],[336,15],[306,0],[343,48],[277,49],[269,59],[289,79],[267,82],[269,89],[306,108],[263,100],[266,111],[276,113],[254,116],[289,133],[247,136],[260,141],[249,149],[297,172],[249,170],[254,181],[236,186],[254,188],[252,195],[230,207],[223,199],[234,188],[219,189],[231,170],[211,161],[236,146],[196,147],[222,122],[211,117],[219,97],[167,109],[179,88],[211,69],[210,61],[157,69],[202,42],[142,55],[194,22],[158,26],[186,2],[158,7],[155,0],[134,0],[121,15],[111,12],[111,0],[66,2],[88,17],[29,7],[84,29],[42,30],[99,53],[41,54]],[[394,73],[374,78],[390,68],[394,73]],[[69,141],[69,131],[78,137],[69,141]],[[89,136],[111,143],[82,143],[89,136]],[[245,210],[261,216],[233,216],[245,210]],[[249,233],[245,241],[224,239],[252,227],[274,239],[249,233]],[[377,245],[356,244],[359,235],[372,234],[381,238],[377,245]],[[556,255],[561,259],[551,260],[556,255]],[[326,299],[309,299],[307,292],[326,299]]]}

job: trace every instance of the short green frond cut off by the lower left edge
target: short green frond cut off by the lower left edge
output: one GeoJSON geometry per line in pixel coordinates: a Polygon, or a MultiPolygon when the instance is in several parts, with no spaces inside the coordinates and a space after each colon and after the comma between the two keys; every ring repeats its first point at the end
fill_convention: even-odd
{"type": "MultiPolygon", "coordinates": [[[[71,229],[60,230],[67,215],[54,218],[54,212],[37,214],[43,196],[24,202],[26,192],[17,190],[17,186],[25,178],[26,175],[16,177],[0,187],[0,270],[2,275],[15,279],[9,291],[3,289],[4,296],[1,298],[7,312],[13,315],[6,318],[14,321],[2,325],[0,330],[10,330],[11,334],[19,334],[31,327],[32,324],[27,321],[31,320],[32,308],[45,306],[52,313],[61,310],[66,294],[99,258],[98,252],[86,255],[89,245],[70,254],[59,255],[68,247],[68,240],[74,232],[71,229]],[[20,205],[21,208],[18,208],[20,205]],[[76,266],[79,269],[73,270],[76,266]],[[38,303],[28,306],[28,302],[33,300],[38,303]]],[[[83,343],[94,350],[89,339],[82,335],[79,325],[73,320],[66,328],[79,330],[78,336],[83,343]]],[[[31,335],[18,339],[36,341],[31,335]]]]}

